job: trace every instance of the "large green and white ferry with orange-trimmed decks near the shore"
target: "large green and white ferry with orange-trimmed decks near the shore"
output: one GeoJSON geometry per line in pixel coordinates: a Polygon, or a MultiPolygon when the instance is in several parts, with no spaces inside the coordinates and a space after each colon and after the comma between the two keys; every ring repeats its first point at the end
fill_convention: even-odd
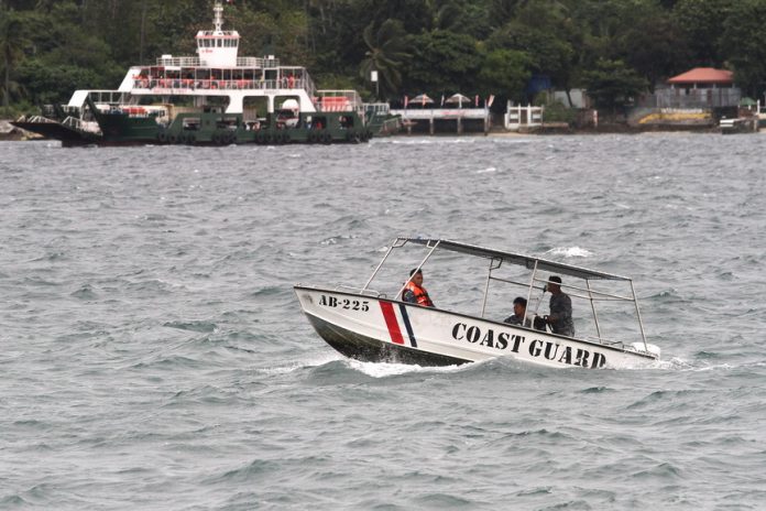
{"type": "Polygon", "coordinates": [[[372,124],[355,90],[317,90],[305,67],[273,55],[240,57],[240,34],[196,35],[197,56],[162,55],[133,66],[117,90],[77,90],[66,106],[46,106],[14,126],[64,145],[146,143],[364,142],[372,124]],[[258,111],[260,105],[261,111],[258,111]],[[259,117],[261,116],[261,117],[259,117]]]}

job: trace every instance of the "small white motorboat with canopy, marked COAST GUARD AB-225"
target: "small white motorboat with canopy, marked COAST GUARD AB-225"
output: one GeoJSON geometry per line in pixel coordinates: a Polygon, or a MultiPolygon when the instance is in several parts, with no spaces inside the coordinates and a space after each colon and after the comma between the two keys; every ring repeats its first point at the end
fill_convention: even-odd
{"type": "MultiPolygon", "coordinates": [[[[660,349],[646,341],[631,279],[457,241],[396,238],[361,287],[297,284],[294,290],[317,334],[339,352],[362,361],[451,366],[507,357],[550,368],[620,369],[650,366],[660,356],[660,349]],[[419,261],[413,273],[400,264],[393,273],[384,271],[385,263],[396,259],[392,258],[393,253],[413,248],[425,250],[425,257],[413,259],[409,253],[398,257],[419,261]],[[469,274],[474,274],[475,286],[464,291],[469,294],[472,289],[481,293],[475,302],[470,302],[479,307],[479,313],[464,307],[433,307],[403,301],[409,275],[417,274],[426,263],[435,268],[427,270],[427,275],[455,275],[460,269],[473,268],[469,274]],[[441,265],[455,268],[439,273],[441,265]],[[488,271],[479,274],[475,269],[488,271]],[[536,314],[549,289],[547,284],[557,281],[549,281],[551,275],[563,281],[561,290],[576,303],[572,307],[576,335],[550,331],[536,314]],[[390,291],[371,289],[375,280],[390,291]],[[534,311],[529,305],[526,307],[521,324],[504,323],[505,314],[500,313],[505,304],[510,307],[516,294],[523,295],[527,304],[536,297],[537,306],[534,311]],[[495,304],[500,301],[500,311],[490,298],[495,304]],[[579,306],[583,304],[587,306],[579,306]],[[609,326],[617,338],[608,336],[609,326]]],[[[441,301],[435,296],[436,304],[441,301]]],[[[445,297],[444,302],[447,301],[445,297]]]]}

